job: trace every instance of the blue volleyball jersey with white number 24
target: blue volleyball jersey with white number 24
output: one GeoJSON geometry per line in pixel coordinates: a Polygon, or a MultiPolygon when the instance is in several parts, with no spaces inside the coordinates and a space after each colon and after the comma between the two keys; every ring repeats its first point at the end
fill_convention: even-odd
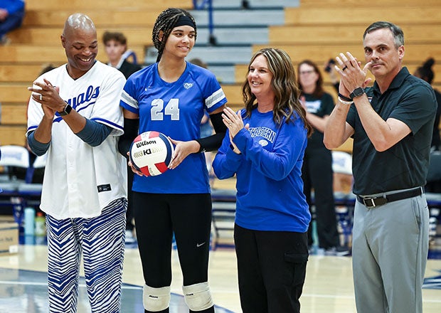
{"type": "MultiPolygon", "coordinates": [[[[121,106],[139,115],[139,133],[155,130],[171,139],[200,138],[203,110],[211,113],[227,99],[215,75],[187,62],[174,83],[159,77],[158,63],[134,73],[122,92],[121,106]]],[[[203,153],[190,154],[176,169],[159,176],[137,176],[133,191],[145,193],[208,193],[210,184],[203,153]]]]}

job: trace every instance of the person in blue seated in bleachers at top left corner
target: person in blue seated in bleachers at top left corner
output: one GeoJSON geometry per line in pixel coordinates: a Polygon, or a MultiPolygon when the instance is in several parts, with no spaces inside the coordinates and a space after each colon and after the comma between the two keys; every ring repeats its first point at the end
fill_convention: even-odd
{"type": "Polygon", "coordinates": [[[4,46],[11,42],[6,33],[14,31],[21,26],[24,17],[23,0],[0,1],[0,45],[4,46]]]}

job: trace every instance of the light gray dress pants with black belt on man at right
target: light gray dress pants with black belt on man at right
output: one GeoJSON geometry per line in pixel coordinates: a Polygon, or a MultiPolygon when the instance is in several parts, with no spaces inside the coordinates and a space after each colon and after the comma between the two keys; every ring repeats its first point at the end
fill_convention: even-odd
{"type": "Polygon", "coordinates": [[[425,195],[367,208],[356,201],[352,265],[358,313],[422,313],[429,248],[425,195]]]}

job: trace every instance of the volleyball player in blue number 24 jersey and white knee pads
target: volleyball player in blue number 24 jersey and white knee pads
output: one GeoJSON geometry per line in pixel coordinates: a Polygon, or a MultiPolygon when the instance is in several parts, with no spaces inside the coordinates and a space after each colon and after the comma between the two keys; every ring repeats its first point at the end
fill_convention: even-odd
{"type": "Polygon", "coordinates": [[[119,141],[124,156],[134,137],[149,130],[166,134],[176,145],[164,174],[142,176],[132,167],[138,174],[132,190],[144,309],[169,312],[174,233],[190,312],[214,312],[208,286],[211,190],[201,152],[220,147],[227,100],[213,73],[185,60],[196,41],[196,22],[187,11],[161,12],[152,39],[159,52],[156,63],[131,75],[122,92],[124,137],[119,141]],[[216,134],[201,139],[204,110],[216,134]]]}

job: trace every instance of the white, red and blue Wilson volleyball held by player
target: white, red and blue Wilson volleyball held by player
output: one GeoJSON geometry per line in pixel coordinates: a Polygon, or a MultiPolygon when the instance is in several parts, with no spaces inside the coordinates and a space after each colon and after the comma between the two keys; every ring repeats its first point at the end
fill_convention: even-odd
{"type": "Polygon", "coordinates": [[[174,146],[169,137],[161,132],[143,132],[130,147],[130,161],[146,176],[161,175],[169,169],[174,146]]]}

